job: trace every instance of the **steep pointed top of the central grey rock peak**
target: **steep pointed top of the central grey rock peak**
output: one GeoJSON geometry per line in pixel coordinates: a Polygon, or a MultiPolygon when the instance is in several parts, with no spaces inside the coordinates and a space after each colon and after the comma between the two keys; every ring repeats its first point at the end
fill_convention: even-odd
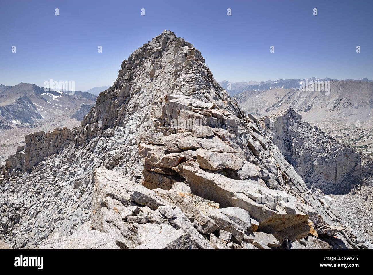
{"type": "MultiPolygon", "coordinates": [[[[200,51],[183,38],[164,31],[122,62],[114,85],[100,93],[95,107],[82,121],[82,127],[96,126],[96,123],[98,126],[101,121],[100,125],[106,129],[122,126],[130,118],[136,118],[138,128],[131,129],[132,132],[154,130],[151,114],[158,112],[156,117],[160,120],[168,118],[168,114],[161,112],[164,105],[161,99],[172,105],[171,119],[181,115],[178,107],[183,102],[190,107],[200,104],[202,109],[214,102],[217,108],[227,109],[232,115],[240,114],[228,94],[213,79],[200,51]],[[166,95],[172,96],[166,98],[166,95]]],[[[183,114],[187,115],[191,109],[183,110],[183,114]]],[[[100,129],[87,127],[88,135],[96,134],[100,129]]],[[[84,137],[79,135],[79,139],[84,137]]]]}

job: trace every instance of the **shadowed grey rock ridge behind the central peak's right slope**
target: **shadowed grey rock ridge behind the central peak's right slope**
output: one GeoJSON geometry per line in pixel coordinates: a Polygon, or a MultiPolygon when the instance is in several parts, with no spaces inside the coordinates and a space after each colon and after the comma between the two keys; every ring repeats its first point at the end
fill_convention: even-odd
{"type": "Polygon", "coordinates": [[[369,168],[361,166],[360,155],[351,146],[311,127],[291,108],[260,121],[308,188],[316,187],[326,194],[346,194],[369,174],[369,168]]]}

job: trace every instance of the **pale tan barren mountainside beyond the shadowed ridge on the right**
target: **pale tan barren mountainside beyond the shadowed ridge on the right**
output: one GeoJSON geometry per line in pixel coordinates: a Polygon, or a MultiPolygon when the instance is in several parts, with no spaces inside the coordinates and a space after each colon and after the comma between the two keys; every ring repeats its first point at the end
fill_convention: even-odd
{"type": "Polygon", "coordinates": [[[307,121],[367,121],[373,115],[372,81],[330,81],[330,93],[273,88],[235,95],[241,108],[257,116],[293,108],[307,121]]]}

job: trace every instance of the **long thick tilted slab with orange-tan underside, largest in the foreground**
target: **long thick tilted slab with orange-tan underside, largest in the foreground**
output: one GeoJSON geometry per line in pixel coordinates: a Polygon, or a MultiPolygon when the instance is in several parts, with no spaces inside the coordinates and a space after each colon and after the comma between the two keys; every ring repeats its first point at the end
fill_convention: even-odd
{"type": "Polygon", "coordinates": [[[255,184],[254,180],[252,183],[247,180],[233,180],[191,166],[183,166],[183,173],[193,194],[216,201],[222,207],[236,206],[248,211],[250,216],[258,220],[259,229],[270,225],[275,231],[282,231],[289,226],[308,220],[309,216],[295,207],[291,209],[295,213],[287,213],[279,204],[275,210],[272,210],[249,198],[245,193],[255,192],[278,200],[286,199],[288,205],[294,205],[296,201],[295,197],[283,191],[255,184]]]}

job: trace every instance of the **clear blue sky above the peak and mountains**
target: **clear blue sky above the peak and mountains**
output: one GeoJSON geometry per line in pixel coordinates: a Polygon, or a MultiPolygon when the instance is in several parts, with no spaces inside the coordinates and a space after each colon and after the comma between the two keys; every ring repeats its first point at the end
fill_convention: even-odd
{"type": "Polygon", "coordinates": [[[373,79],[373,1],[0,1],[4,85],[112,85],[122,61],[165,29],[194,44],[217,81],[373,79]]]}

